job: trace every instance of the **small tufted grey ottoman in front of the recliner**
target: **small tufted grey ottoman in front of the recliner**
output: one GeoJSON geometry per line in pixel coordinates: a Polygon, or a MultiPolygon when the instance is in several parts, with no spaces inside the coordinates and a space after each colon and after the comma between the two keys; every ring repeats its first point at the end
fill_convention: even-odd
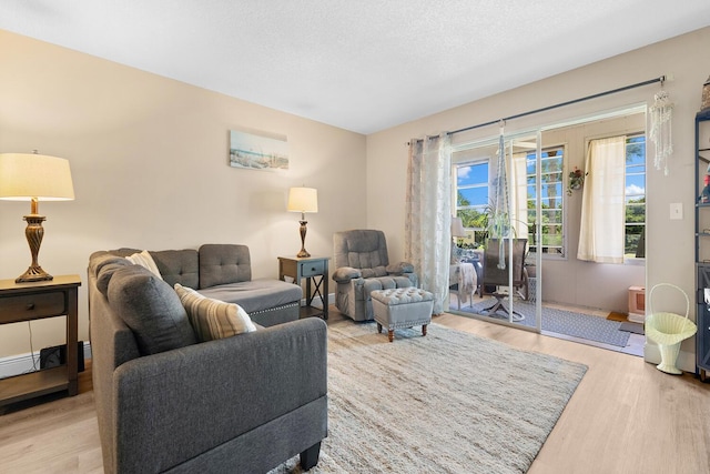
{"type": "Polygon", "coordinates": [[[426,335],[426,325],[432,322],[434,295],[417,288],[375,290],[371,293],[373,312],[377,321],[377,332],[387,327],[389,342],[395,339],[396,327],[422,325],[422,335],[426,335]]]}

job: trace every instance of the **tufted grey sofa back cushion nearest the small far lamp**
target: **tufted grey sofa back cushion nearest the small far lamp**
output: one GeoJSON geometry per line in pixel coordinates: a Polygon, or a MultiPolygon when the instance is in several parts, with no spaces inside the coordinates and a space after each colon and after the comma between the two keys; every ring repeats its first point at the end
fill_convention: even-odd
{"type": "MultiPolygon", "coordinates": [[[[207,243],[200,248],[200,286],[205,289],[252,280],[248,246],[207,243]]],[[[183,286],[190,286],[182,284],[183,286]]],[[[193,286],[194,288],[194,286],[193,286]]]]}

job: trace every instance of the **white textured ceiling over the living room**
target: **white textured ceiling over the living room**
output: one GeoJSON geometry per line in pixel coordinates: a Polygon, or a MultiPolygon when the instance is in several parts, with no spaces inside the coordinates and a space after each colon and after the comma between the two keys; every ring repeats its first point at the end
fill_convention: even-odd
{"type": "Polygon", "coordinates": [[[0,29],[361,133],[708,24],[708,0],[0,3],[0,29]]]}

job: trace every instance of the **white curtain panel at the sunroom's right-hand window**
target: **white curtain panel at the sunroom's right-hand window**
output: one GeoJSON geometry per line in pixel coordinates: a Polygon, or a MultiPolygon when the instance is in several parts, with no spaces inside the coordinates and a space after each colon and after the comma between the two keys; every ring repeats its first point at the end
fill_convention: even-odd
{"type": "Polygon", "coordinates": [[[577,259],[623,263],[626,137],[590,140],[577,259]]]}

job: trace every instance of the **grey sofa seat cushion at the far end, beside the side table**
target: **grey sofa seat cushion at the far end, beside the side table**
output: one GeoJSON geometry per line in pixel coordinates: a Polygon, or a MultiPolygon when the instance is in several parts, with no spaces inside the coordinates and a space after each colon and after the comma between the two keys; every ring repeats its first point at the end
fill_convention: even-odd
{"type": "Polygon", "coordinates": [[[248,314],[301,301],[303,296],[303,290],[297,284],[271,279],[201,289],[200,293],[215,300],[236,303],[248,314]]]}

